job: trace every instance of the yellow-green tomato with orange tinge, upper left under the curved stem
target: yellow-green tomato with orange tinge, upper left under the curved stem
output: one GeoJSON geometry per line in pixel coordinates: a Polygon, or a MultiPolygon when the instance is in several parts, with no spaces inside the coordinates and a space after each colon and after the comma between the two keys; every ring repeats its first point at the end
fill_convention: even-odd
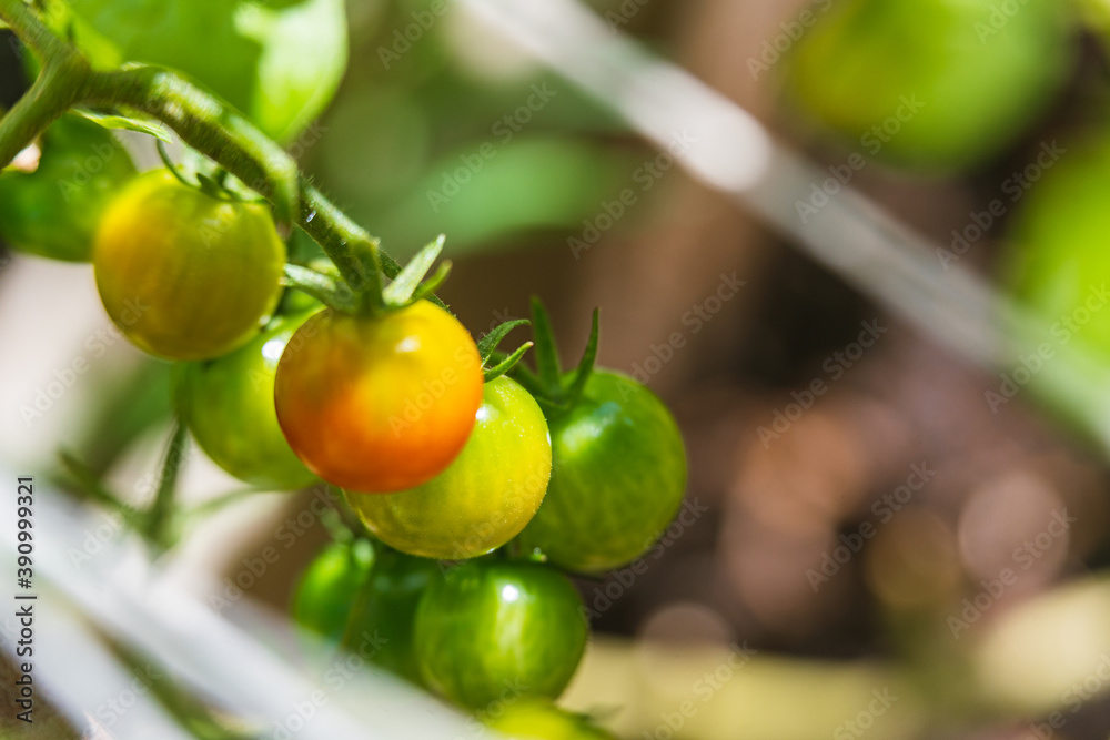
{"type": "Polygon", "coordinates": [[[254,337],[281,297],[285,244],[269,211],[140,175],[97,232],[93,267],[108,315],[167,359],[211,359],[254,337]]]}

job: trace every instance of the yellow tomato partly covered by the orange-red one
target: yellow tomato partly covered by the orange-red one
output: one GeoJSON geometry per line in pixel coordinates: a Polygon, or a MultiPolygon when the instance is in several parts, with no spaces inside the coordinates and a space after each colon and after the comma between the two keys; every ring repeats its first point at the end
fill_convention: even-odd
{"type": "Polygon", "coordinates": [[[474,432],[432,480],[383,496],[351,494],[366,528],[403,553],[463,560],[501,547],[535,515],[551,479],[547,422],[515,381],[485,385],[474,432]]]}

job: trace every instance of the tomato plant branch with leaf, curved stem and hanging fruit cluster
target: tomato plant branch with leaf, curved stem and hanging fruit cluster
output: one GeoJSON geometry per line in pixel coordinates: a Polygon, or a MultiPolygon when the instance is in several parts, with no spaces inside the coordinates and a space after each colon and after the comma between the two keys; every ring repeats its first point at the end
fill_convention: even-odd
{"type": "MultiPolygon", "coordinates": [[[[175,500],[186,428],[253,486],[292,489],[320,476],[345,489],[382,541],[342,505],[313,508],[336,544],[296,586],[299,624],[340,650],[377,645],[359,652],[463,707],[519,699],[503,718],[509,731],[604,739],[534,701],[566,688],[588,637],[577,590],[552,564],[599,572],[658,536],[685,483],[677,427],[646,388],[594,368],[596,313],[566,375],[542,308],[537,373],[518,366],[532,343],[498,351],[526,321],[475,343],[435,295],[450,270],[430,275],[444,237],[402,265],[271,139],[299,131],[334,89],[344,53],[336,9],[340,0],[0,0],[0,22],[39,62],[32,90],[0,121],[0,161],[46,132],[40,171],[0,178],[0,192],[13,193],[0,203],[0,215],[13,204],[3,227],[26,231],[12,236],[24,249],[63,259],[83,257],[91,240],[108,315],[142,349],[180,363],[178,418],[150,500],[135,510],[104,483],[108,464],[65,454],[69,483],[162,554],[185,523],[241,493],[188,510],[175,500]],[[194,28],[211,53],[181,44],[181,29],[194,28]],[[72,110],[84,120],[58,121],[72,110]],[[159,144],[168,169],[134,175],[103,150],[109,184],[72,193],[90,199],[79,212],[37,195],[77,166],[67,149],[97,153],[110,140],[88,120],[161,141],[172,130],[188,168],[159,144]],[[521,559],[522,544],[541,554],[521,559]],[[444,574],[432,558],[465,561],[444,574]]],[[[179,709],[195,719],[194,708],[179,709]]]]}

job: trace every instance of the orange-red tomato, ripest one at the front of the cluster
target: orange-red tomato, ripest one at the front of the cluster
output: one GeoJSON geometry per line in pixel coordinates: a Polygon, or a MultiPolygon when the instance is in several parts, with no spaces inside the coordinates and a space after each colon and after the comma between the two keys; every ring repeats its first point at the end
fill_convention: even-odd
{"type": "Polygon", "coordinates": [[[381,494],[427,483],[455,459],[482,403],[470,333],[427,301],[381,318],[325,310],[278,366],[278,420],[324,480],[381,494]]]}

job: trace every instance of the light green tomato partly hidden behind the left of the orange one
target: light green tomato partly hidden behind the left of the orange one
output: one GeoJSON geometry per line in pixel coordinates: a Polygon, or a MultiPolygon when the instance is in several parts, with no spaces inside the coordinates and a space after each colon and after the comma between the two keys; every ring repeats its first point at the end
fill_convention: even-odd
{"type": "Polygon", "coordinates": [[[221,468],[260,488],[292,490],[317,478],[290,448],[274,409],[274,375],[307,318],[281,316],[231,354],[180,366],[178,408],[196,444],[221,468]]]}

